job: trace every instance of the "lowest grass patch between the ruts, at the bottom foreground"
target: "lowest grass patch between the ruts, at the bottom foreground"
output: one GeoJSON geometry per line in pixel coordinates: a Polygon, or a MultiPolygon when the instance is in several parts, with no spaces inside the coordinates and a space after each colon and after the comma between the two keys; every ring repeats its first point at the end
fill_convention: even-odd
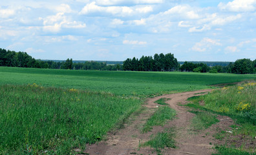
{"type": "Polygon", "coordinates": [[[155,136],[152,135],[149,141],[142,144],[143,146],[150,146],[158,153],[165,149],[165,147],[176,149],[175,128],[165,129],[164,132],[158,132],[155,136]]]}

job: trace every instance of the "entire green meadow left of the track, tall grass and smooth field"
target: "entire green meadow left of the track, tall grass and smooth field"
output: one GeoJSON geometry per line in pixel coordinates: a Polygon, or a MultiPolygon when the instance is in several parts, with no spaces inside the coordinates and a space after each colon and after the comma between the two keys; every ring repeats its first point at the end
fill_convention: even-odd
{"type": "Polygon", "coordinates": [[[152,96],[256,75],[0,67],[0,154],[70,154],[95,143],[152,96]]]}

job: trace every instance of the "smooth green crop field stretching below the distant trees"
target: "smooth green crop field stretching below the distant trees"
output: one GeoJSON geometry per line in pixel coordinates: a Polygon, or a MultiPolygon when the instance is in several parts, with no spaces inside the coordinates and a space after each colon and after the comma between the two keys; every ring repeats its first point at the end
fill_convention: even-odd
{"type": "Polygon", "coordinates": [[[124,96],[152,96],[210,88],[209,85],[256,79],[256,75],[191,72],[110,72],[0,67],[0,85],[32,84],[78,88],[124,96]]]}

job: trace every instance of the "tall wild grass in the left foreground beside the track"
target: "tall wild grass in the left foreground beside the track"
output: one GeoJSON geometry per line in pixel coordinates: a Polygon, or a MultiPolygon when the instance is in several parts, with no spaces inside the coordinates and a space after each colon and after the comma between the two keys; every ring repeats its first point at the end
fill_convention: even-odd
{"type": "Polygon", "coordinates": [[[123,98],[75,88],[0,86],[0,154],[70,154],[95,143],[140,108],[123,98]]]}

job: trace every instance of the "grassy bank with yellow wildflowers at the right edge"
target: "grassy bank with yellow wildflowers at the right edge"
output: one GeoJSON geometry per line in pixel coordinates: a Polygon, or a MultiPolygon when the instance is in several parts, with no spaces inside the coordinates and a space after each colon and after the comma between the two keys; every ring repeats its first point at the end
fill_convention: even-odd
{"type": "Polygon", "coordinates": [[[256,125],[256,82],[213,90],[204,97],[206,108],[248,119],[256,125]]]}

